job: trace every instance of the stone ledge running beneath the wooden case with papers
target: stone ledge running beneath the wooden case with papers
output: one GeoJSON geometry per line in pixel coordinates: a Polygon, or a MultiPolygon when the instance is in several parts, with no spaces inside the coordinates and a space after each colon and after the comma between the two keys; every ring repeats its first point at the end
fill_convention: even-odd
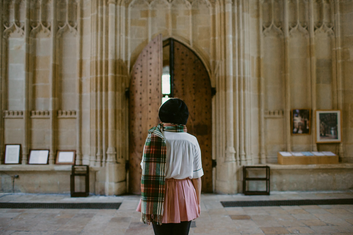
{"type": "Polygon", "coordinates": [[[308,164],[308,165],[280,165],[266,164],[270,169],[353,169],[353,163],[338,163],[338,164],[308,164]]]}

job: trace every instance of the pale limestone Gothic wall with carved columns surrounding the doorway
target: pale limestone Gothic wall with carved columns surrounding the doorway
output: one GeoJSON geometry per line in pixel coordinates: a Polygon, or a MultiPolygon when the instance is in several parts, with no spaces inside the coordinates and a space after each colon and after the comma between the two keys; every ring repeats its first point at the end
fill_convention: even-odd
{"type": "MultiPolygon", "coordinates": [[[[353,187],[353,0],[0,2],[0,159],[5,144],[22,144],[22,166],[0,171],[41,182],[39,189],[22,181],[19,191],[68,192],[70,167],[53,164],[56,150],[74,149],[76,164],[91,167],[91,192],[126,192],[133,173],[125,168],[125,89],[159,33],[194,51],[216,88],[216,192],[241,192],[241,166],[276,163],[283,150],[333,151],[348,165],[312,166],[317,177],[305,188],[275,183],[292,182],[304,166],[293,174],[274,166],[276,190],[353,187]],[[313,113],[311,135],[292,136],[294,108],[342,110],[342,143],[316,144],[313,113]],[[27,165],[30,149],[50,149],[49,166],[27,165]],[[346,183],[328,185],[320,175],[330,172],[346,183]]],[[[0,175],[7,191],[8,176],[0,175]]]]}

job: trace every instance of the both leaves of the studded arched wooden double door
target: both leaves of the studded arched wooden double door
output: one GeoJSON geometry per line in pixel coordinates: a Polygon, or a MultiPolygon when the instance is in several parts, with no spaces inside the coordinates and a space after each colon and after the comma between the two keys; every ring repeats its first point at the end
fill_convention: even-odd
{"type": "MultiPolygon", "coordinates": [[[[202,61],[185,45],[169,40],[172,97],[183,99],[189,108],[187,131],[201,148],[202,191],[212,192],[211,84],[202,61]]],[[[154,38],[141,52],[132,69],[129,99],[129,192],[139,194],[140,162],[147,130],[159,122],[162,91],[162,37],[154,38]]]]}

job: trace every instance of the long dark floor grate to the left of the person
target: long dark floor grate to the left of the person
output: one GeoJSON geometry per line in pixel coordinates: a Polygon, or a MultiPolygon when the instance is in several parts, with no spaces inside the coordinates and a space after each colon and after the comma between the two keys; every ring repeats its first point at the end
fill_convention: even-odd
{"type": "Polygon", "coordinates": [[[0,208],[11,209],[119,209],[121,203],[11,203],[2,202],[0,208]]]}

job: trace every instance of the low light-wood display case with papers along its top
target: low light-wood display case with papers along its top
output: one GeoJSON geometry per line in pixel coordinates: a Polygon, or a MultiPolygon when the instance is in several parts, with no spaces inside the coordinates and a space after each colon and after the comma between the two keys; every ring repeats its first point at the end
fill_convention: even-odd
{"type": "MultiPolygon", "coordinates": [[[[278,152],[277,153],[277,158],[278,158],[278,163],[281,165],[297,165],[297,164],[337,164],[339,163],[339,158],[336,154],[333,154],[331,156],[328,155],[321,155],[321,156],[294,156],[293,154],[291,156],[288,156],[287,154],[282,153],[292,153],[292,152],[278,152]]],[[[300,152],[298,152],[300,153],[300,152]]],[[[321,153],[321,152],[319,152],[321,153]]]]}

